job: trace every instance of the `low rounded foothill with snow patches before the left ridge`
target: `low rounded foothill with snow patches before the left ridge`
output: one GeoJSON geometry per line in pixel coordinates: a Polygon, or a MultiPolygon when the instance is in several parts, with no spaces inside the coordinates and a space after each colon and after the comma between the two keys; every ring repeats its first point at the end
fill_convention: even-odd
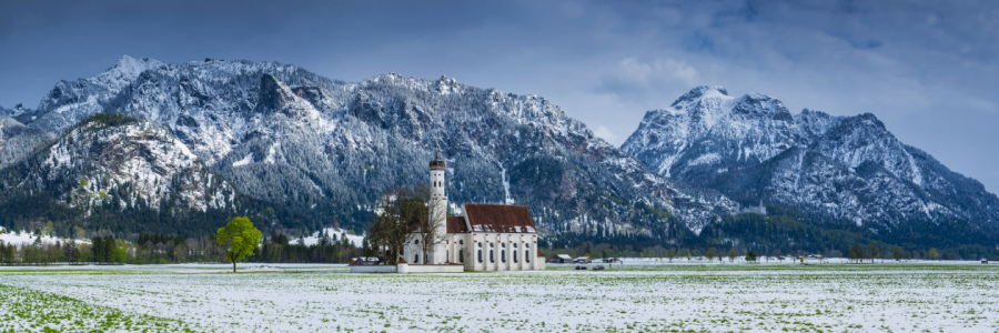
{"type": "Polygon", "coordinates": [[[204,211],[232,205],[235,195],[169,129],[130,117],[84,119],[33,162],[23,182],[71,206],[159,209],[169,199],[173,208],[204,211]]]}

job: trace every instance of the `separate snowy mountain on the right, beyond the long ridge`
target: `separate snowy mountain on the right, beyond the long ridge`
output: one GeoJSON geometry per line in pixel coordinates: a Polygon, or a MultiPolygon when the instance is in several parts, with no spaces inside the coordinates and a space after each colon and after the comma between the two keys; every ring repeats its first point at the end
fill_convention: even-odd
{"type": "Polygon", "coordinates": [[[999,230],[995,194],[900,142],[870,113],[791,114],[765,94],[698,87],[648,111],[622,150],[676,182],[878,233],[956,233],[985,243],[999,230]]]}

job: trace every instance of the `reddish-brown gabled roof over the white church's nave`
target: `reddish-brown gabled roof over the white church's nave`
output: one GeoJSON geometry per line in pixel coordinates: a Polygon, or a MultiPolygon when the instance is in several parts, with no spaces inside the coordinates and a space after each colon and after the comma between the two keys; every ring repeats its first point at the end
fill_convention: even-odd
{"type": "Polygon", "coordinates": [[[466,203],[464,211],[473,232],[537,232],[526,205],[466,203]]]}

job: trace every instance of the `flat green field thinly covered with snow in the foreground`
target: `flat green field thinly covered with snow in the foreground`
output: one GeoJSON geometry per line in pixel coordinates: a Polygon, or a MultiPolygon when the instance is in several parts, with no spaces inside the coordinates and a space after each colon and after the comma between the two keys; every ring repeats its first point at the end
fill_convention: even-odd
{"type": "Polygon", "coordinates": [[[999,265],[627,264],[350,274],[343,265],[0,268],[0,332],[996,332],[999,265]]]}

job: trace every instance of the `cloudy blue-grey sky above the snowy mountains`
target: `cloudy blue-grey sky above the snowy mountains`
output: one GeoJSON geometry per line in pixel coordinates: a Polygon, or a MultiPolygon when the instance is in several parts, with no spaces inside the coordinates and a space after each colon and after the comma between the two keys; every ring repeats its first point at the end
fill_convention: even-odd
{"type": "Polygon", "coordinates": [[[999,1],[0,1],[0,105],[123,54],[538,94],[619,145],[699,84],[871,112],[999,190],[999,1]],[[205,2],[205,3],[202,3],[205,2]]]}

